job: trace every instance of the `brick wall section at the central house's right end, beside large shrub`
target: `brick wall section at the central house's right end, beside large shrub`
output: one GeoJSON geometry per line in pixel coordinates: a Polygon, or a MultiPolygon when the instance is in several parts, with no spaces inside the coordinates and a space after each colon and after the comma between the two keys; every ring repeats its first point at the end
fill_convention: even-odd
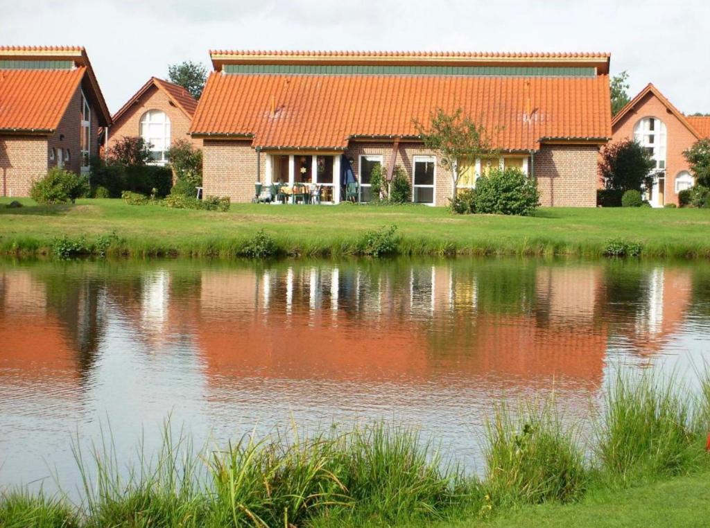
{"type": "Polygon", "coordinates": [[[596,207],[596,145],[542,145],[534,175],[543,207],[596,207]]]}

